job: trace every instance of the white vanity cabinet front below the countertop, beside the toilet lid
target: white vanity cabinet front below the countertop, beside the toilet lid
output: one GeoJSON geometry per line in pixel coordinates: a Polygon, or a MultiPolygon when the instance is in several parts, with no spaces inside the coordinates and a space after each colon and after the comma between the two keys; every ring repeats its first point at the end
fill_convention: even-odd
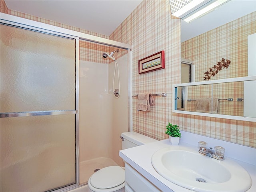
{"type": "Polygon", "coordinates": [[[154,184],[125,163],[125,192],[160,192],[154,184]]]}

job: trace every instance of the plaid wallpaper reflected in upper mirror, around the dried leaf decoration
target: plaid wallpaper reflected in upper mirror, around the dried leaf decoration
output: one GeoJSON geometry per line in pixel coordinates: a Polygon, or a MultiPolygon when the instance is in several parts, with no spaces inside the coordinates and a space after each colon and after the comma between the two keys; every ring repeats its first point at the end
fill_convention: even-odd
{"type": "Polygon", "coordinates": [[[211,80],[248,76],[247,36],[256,33],[256,12],[210,30],[182,43],[182,58],[192,60],[196,81],[204,80],[204,73],[219,61],[231,61],[211,80]]]}

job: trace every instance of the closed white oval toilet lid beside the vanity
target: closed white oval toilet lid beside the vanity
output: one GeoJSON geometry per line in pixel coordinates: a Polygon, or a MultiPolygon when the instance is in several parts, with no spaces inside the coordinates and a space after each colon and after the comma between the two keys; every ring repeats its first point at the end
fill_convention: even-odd
{"type": "Polygon", "coordinates": [[[124,169],[120,166],[105,167],[95,172],[90,183],[98,189],[108,189],[124,183],[124,169]]]}

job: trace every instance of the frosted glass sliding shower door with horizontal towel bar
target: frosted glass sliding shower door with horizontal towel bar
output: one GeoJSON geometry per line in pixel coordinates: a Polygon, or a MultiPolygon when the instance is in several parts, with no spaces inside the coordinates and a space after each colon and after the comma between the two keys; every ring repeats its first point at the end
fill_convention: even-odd
{"type": "Polygon", "coordinates": [[[0,191],[77,184],[77,41],[3,24],[0,32],[0,191]]]}

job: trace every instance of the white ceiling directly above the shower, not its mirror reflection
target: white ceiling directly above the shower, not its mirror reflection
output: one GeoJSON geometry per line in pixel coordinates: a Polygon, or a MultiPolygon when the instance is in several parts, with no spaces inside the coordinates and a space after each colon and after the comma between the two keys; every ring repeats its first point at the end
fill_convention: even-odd
{"type": "Polygon", "coordinates": [[[142,0],[5,0],[9,9],[109,36],[142,0]]]}

